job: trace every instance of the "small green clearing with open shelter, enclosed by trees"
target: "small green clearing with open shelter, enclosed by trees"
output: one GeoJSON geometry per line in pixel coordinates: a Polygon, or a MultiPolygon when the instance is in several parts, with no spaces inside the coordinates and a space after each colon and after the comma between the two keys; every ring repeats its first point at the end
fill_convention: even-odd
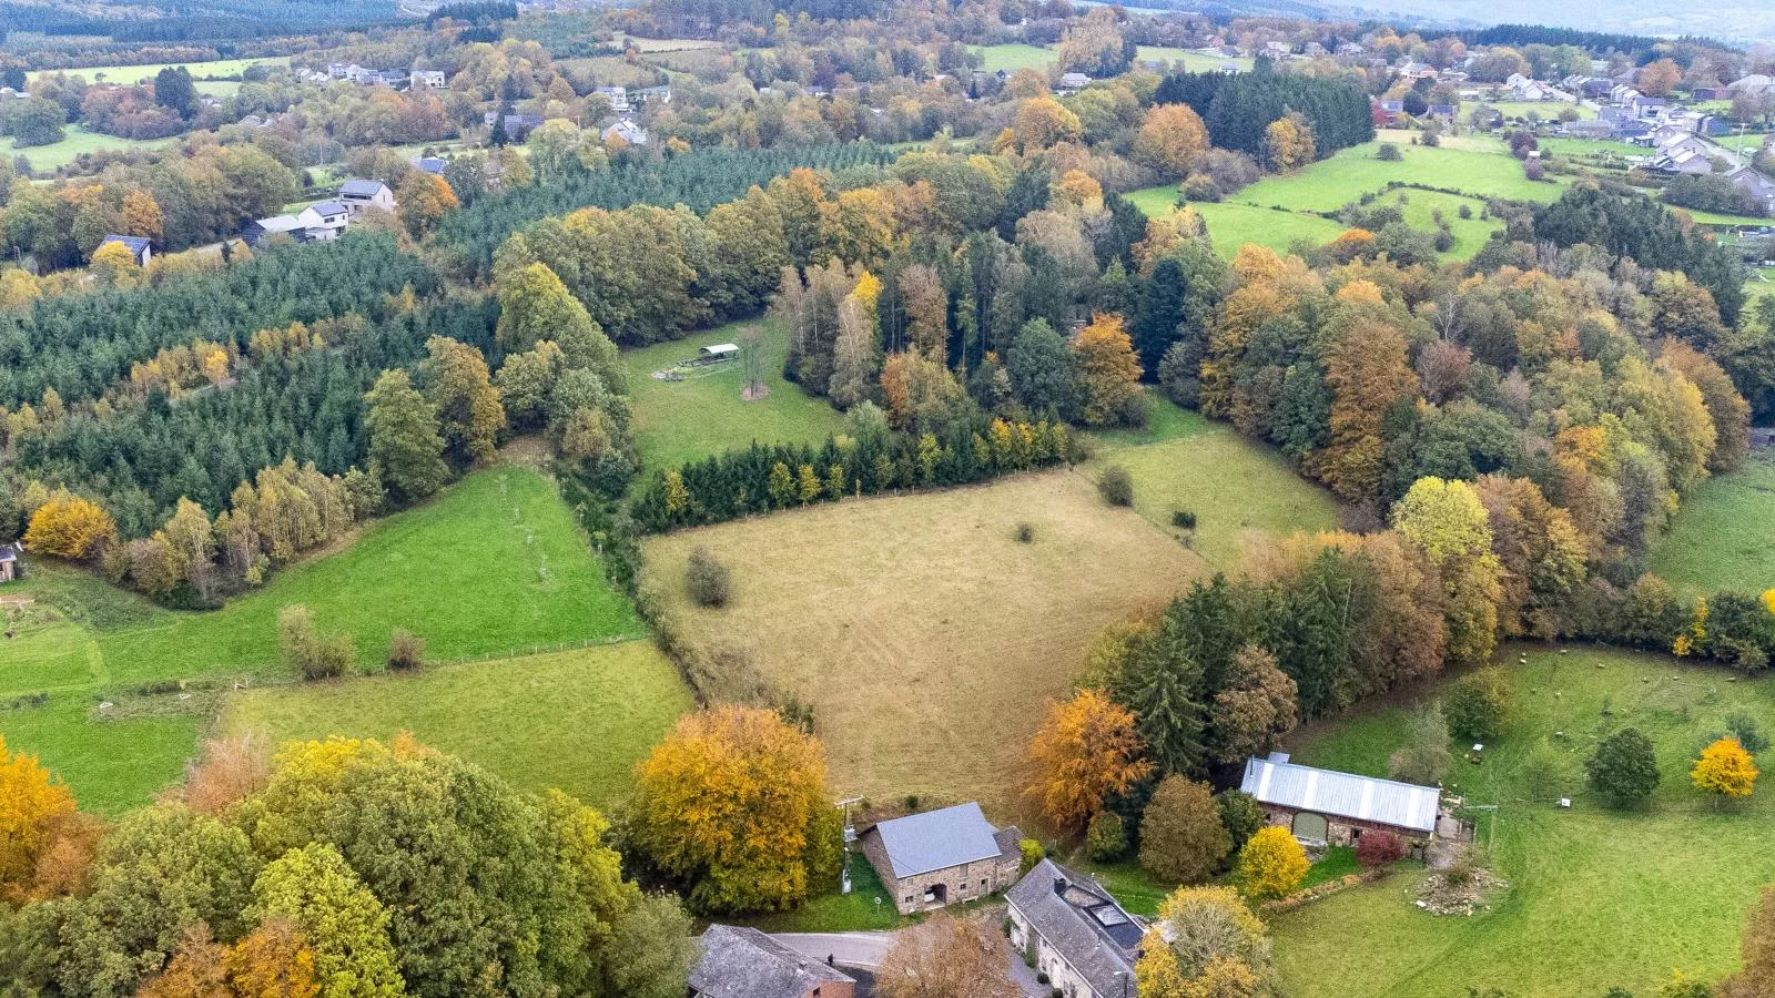
{"type": "Polygon", "coordinates": [[[843,426],[843,416],[825,400],[783,380],[788,334],[774,320],[733,323],[671,343],[625,350],[628,398],[634,405],[635,446],[648,469],[671,469],[731,448],[760,444],[818,444],[843,426]],[[761,400],[746,401],[746,362],[728,360],[687,368],[685,380],[664,382],[653,371],[696,357],[710,343],[738,343],[742,332],[760,329],[763,380],[770,389],[761,400]]]}

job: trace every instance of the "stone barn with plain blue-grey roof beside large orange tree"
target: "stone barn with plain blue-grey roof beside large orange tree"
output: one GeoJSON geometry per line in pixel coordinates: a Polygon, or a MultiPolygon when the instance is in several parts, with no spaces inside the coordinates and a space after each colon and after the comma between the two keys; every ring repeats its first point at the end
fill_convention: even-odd
{"type": "Polygon", "coordinates": [[[974,900],[1017,881],[1015,826],[998,829],[969,801],[875,824],[863,833],[863,854],[893,895],[900,915],[951,900],[974,900]]]}

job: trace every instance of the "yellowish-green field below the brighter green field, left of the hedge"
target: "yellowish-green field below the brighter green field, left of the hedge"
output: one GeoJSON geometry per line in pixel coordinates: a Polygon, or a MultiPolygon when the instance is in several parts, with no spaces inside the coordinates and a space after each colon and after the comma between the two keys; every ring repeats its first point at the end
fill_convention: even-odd
{"type": "Polygon", "coordinates": [[[238,693],[220,728],[275,742],[412,732],[520,788],[559,787],[609,806],[627,796],[635,764],[692,707],[651,641],[623,641],[238,693]]]}

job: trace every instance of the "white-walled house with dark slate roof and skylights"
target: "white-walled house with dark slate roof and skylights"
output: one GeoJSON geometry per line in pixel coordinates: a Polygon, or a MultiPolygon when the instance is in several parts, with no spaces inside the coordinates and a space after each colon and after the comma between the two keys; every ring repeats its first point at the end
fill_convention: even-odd
{"type": "Polygon", "coordinates": [[[1069,998],[1131,998],[1147,929],[1097,881],[1042,859],[1005,893],[1010,945],[1069,998]]]}

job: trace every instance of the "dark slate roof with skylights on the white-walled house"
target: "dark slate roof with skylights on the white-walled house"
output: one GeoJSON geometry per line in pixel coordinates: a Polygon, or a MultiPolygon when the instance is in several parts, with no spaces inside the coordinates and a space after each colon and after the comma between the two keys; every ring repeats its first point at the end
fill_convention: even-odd
{"type": "Polygon", "coordinates": [[[1132,978],[1145,927],[1109,891],[1053,859],[1042,859],[1005,893],[1005,900],[1093,991],[1109,998],[1122,994],[1118,973],[1132,978]]]}

